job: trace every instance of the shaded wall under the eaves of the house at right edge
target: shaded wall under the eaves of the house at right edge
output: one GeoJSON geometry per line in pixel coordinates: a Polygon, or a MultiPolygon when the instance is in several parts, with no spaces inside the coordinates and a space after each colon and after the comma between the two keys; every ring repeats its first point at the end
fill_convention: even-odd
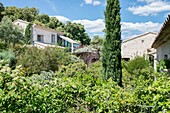
{"type": "Polygon", "coordinates": [[[168,59],[170,58],[170,40],[157,48],[157,59],[163,60],[164,55],[168,55],[168,59]]]}

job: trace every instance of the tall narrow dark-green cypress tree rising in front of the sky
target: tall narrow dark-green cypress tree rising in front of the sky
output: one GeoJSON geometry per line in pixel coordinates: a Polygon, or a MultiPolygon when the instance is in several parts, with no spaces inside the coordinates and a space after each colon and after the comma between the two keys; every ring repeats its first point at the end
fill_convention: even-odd
{"type": "Polygon", "coordinates": [[[121,25],[119,0],[107,0],[105,11],[106,41],[104,42],[102,63],[103,78],[112,78],[122,86],[121,66],[121,25]]]}

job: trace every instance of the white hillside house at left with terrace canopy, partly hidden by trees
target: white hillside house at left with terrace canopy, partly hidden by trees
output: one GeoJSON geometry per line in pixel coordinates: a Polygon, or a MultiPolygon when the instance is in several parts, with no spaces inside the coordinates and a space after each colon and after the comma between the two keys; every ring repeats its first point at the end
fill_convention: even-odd
{"type": "MultiPolygon", "coordinates": [[[[18,19],[14,21],[14,24],[20,26],[25,31],[29,22],[18,19]]],[[[30,38],[34,46],[41,48],[58,45],[60,47],[68,47],[71,52],[78,48],[78,42],[63,35],[62,32],[58,32],[54,29],[33,24],[30,38]]]]}

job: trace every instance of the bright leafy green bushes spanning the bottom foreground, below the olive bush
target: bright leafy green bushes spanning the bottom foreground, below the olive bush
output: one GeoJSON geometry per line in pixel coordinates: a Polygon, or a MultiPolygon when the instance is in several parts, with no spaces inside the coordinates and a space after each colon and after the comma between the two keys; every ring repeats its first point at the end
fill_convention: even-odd
{"type": "Polygon", "coordinates": [[[158,75],[150,84],[142,77],[135,79],[133,89],[123,89],[92,73],[59,77],[42,72],[28,77],[20,66],[12,70],[0,61],[0,112],[168,112],[170,77],[158,75]],[[151,111],[148,106],[153,106],[151,111]]]}

